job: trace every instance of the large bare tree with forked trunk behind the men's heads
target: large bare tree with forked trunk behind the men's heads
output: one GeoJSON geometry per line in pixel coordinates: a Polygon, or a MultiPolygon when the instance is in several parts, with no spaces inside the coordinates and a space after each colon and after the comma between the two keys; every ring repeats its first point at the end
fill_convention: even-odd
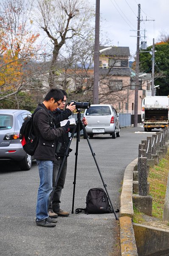
{"type": "Polygon", "coordinates": [[[66,41],[84,37],[93,14],[85,0],[37,0],[37,4],[39,25],[53,45],[48,81],[54,87],[60,49],[66,41]]]}

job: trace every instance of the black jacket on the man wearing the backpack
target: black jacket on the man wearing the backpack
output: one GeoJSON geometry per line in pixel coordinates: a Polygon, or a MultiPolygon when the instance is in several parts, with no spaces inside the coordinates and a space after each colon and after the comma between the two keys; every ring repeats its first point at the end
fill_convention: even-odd
{"type": "Polygon", "coordinates": [[[34,158],[38,160],[56,160],[56,137],[65,133],[65,128],[55,128],[53,116],[49,113],[45,105],[39,104],[39,111],[34,114],[34,133],[39,135],[39,143],[34,153],[34,158]]]}

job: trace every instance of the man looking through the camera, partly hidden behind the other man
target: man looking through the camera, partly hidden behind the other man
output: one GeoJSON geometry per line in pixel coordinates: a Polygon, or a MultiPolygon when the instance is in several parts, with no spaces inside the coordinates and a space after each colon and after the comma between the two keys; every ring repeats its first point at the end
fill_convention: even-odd
{"type": "MultiPolygon", "coordinates": [[[[73,110],[76,109],[76,105],[74,105],[74,102],[71,102],[69,105],[67,105],[65,111],[63,111],[64,108],[65,108],[65,105],[66,105],[67,93],[64,90],[62,90],[62,93],[64,94],[64,100],[59,105],[57,110],[53,112],[56,123],[59,123],[60,121],[68,119],[68,116],[70,116],[72,114],[73,110]]],[[[86,118],[83,118],[82,122],[84,123],[84,125],[87,125],[87,119],[86,118]]],[[[70,128],[70,132],[71,132],[71,128],[70,128]]],[[[58,175],[58,172],[59,172],[59,168],[62,164],[62,160],[63,160],[66,148],[67,148],[68,143],[69,143],[68,133],[67,134],[62,134],[61,137],[57,138],[57,141],[61,145],[61,147],[59,149],[59,152],[56,152],[56,160],[54,161],[53,187],[55,185],[55,181],[56,181],[56,178],[57,178],[57,175],[58,175]]],[[[69,149],[69,152],[71,152],[71,151],[72,150],[69,149]]],[[[68,217],[69,216],[69,212],[60,209],[60,205],[59,205],[62,189],[63,189],[64,184],[65,184],[66,172],[67,172],[67,157],[66,157],[64,165],[62,167],[62,171],[60,173],[59,180],[58,180],[58,183],[57,183],[56,188],[55,188],[55,192],[54,192],[54,196],[52,198],[52,202],[51,202],[51,204],[49,206],[49,209],[48,209],[48,214],[51,218],[57,218],[57,216],[62,216],[62,217],[68,217]]]]}

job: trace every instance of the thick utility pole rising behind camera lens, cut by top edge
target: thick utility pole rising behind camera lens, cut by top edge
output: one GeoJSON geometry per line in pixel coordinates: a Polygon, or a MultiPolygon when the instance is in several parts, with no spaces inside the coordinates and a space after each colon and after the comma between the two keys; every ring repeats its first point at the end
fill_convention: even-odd
{"type": "Polygon", "coordinates": [[[100,0],[96,0],[93,104],[99,104],[99,23],[100,0]]]}

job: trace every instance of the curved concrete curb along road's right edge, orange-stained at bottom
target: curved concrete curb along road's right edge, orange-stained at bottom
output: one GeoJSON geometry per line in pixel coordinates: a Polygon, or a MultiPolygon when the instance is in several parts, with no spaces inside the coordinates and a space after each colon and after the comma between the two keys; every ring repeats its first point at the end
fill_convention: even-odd
{"type": "Polygon", "coordinates": [[[120,197],[120,245],[121,256],[138,256],[135,243],[134,230],[132,227],[132,182],[133,171],[138,158],[132,161],[124,171],[123,185],[120,197]]]}

